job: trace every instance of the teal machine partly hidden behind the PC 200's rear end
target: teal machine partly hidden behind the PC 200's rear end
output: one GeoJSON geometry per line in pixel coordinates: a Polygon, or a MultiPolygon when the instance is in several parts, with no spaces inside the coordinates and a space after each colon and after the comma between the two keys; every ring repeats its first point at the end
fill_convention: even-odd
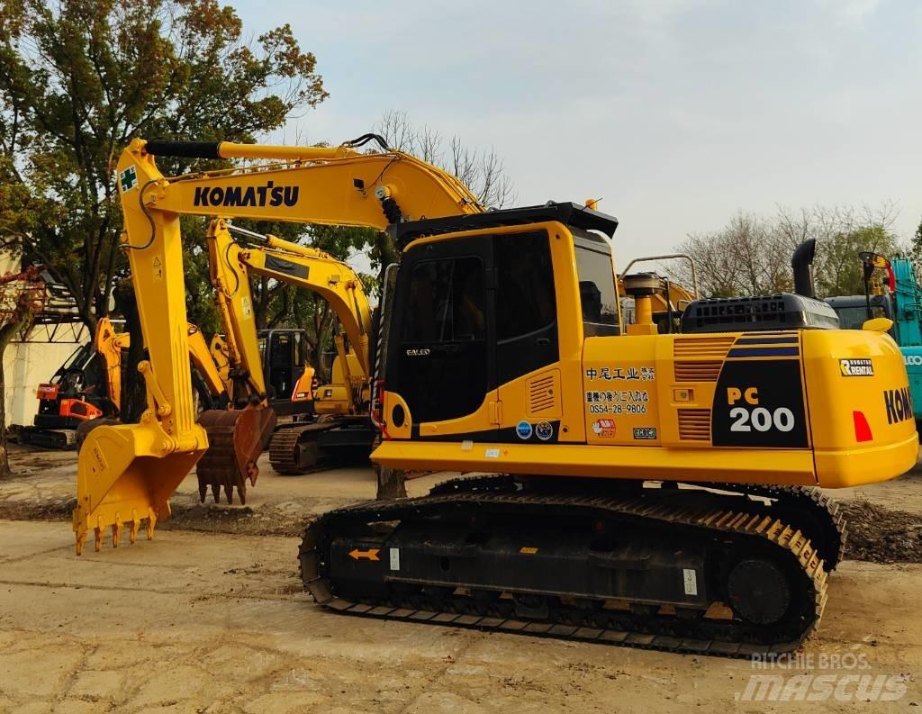
{"type": "Polygon", "coordinates": [[[839,315],[843,329],[861,329],[872,317],[893,321],[890,334],[903,352],[916,426],[922,427],[922,288],[907,258],[891,261],[876,253],[858,255],[864,268],[865,294],[826,298],[826,302],[839,315]],[[885,271],[882,280],[873,278],[878,268],[885,271]]]}

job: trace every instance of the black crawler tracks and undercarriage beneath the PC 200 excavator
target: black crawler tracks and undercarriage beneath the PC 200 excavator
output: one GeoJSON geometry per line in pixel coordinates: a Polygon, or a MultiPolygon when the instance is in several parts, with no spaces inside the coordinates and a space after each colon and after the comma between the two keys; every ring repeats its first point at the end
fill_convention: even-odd
{"type": "Polygon", "coordinates": [[[826,566],[773,508],[798,516],[808,499],[836,529],[824,498],[537,483],[460,479],[327,513],[304,533],[304,587],[339,613],[732,657],[798,649],[816,628],[826,566]]]}

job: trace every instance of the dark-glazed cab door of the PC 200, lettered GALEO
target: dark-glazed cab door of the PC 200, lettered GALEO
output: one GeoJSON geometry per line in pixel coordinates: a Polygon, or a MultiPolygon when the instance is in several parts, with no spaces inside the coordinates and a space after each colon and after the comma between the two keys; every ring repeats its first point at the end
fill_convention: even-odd
{"type": "Polygon", "coordinates": [[[495,440],[496,424],[480,418],[496,387],[493,275],[485,236],[410,246],[403,256],[386,383],[409,412],[390,421],[409,420],[412,438],[495,440]],[[420,424],[464,417],[420,433],[420,424]]]}

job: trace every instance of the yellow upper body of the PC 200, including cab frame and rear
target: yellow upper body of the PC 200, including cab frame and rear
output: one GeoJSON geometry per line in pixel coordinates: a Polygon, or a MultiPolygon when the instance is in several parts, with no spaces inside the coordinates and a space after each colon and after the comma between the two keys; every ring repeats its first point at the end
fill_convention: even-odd
{"type": "MultiPolygon", "coordinates": [[[[388,360],[397,369],[389,366],[384,393],[388,438],[373,460],[406,470],[831,488],[889,479],[916,462],[908,380],[886,335],[808,329],[587,337],[581,301],[592,299],[592,291],[586,291],[586,276],[573,269],[580,266],[574,246],[578,254],[586,245],[594,248],[584,237],[574,239],[568,227],[546,222],[431,236],[408,246],[409,277],[402,298],[398,282],[396,311],[409,316],[404,327],[398,326],[402,335],[391,338],[396,344],[388,360]],[[454,261],[453,285],[477,255],[486,261],[486,275],[493,270],[505,276],[502,247],[489,243],[500,246],[516,238],[532,242],[518,255],[544,251],[549,256],[556,319],[548,330],[553,334],[538,330],[503,339],[504,291],[512,294],[512,288],[503,287],[502,277],[496,279],[495,295],[483,292],[485,300],[495,300],[500,316],[482,336],[476,327],[464,327],[471,334],[454,341],[442,335],[420,341],[412,334],[430,319],[443,331],[449,326],[456,332],[464,319],[467,295],[453,292],[452,304],[462,307],[446,307],[445,315],[434,318],[416,300],[420,291],[429,294],[436,271],[449,269],[446,261],[454,261]],[[450,249],[443,253],[440,244],[450,249]],[[578,315],[584,321],[573,319],[578,315]],[[509,363],[519,372],[529,364],[521,352],[506,350],[507,344],[515,347],[519,341],[521,349],[535,351],[549,340],[556,342],[556,353],[545,363],[503,380],[509,363]],[[461,406],[455,411],[463,413],[427,419],[451,411],[426,398],[440,385],[438,359],[433,360],[440,354],[439,399],[457,402],[461,406]],[[463,376],[466,361],[457,354],[476,354],[492,364],[494,374],[479,384],[491,387],[492,379],[495,386],[484,389],[482,399],[451,396],[453,389],[476,391],[478,383],[477,375],[463,376]],[[453,369],[456,374],[449,378],[453,369]]],[[[593,256],[596,268],[601,252],[593,256]]],[[[609,279],[612,275],[613,268],[609,279]]],[[[595,280],[601,279],[596,275],[595,280]]],[[[439,304],[437,297],[430,302],[439,304]]]]}

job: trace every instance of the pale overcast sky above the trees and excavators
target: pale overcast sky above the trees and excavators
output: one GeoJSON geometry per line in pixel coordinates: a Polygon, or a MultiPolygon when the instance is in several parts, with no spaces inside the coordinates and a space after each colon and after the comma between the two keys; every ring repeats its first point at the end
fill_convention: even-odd
{"type": "Polygon", "coordinates": [[[518,205],[601,196],[621,265],[740,208],[922,217],[922,2],[225,2],[317,56],[331,96],[287,137],[406,110],[495,148],[518,205]]]}

